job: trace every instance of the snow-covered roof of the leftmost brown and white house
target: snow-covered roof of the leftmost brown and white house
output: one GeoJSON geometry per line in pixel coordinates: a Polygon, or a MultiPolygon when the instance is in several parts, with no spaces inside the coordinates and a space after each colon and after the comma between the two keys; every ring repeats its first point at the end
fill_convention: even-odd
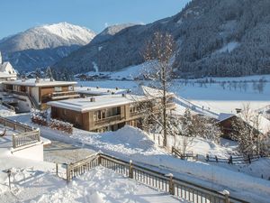
{"type": "Polygon", "coordinates": [[[35,78],[14,81],[4,81],[6,85],[18,85],[18,86],[29,86],[29,87],[51,87],[51,86],[69,86],[76,85],[74,81],[50,81],[49,79],[40,78],[39,82],[36,82],[35,78]]]}

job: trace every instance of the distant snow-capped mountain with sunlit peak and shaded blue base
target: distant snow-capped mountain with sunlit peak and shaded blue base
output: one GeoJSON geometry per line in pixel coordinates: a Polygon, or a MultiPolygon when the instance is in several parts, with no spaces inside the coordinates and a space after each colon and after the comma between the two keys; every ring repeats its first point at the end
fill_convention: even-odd
{"type": "Polygon", "coordinates": [[[0,41],[4,60],[15,69],[45,68],[91,42],[94,32],[69,23],[31,28],[0,41]]]}

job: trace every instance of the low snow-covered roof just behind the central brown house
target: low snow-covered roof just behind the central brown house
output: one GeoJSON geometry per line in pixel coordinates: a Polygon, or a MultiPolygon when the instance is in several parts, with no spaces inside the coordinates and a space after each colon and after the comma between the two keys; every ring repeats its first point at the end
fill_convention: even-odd
{"type": "Polygon", "coordinates": [[[99,88],[99,87],[76,87],[75,91],[85,95],[112,95],[127,93],[128,89],[120,88],[99,88]]]}

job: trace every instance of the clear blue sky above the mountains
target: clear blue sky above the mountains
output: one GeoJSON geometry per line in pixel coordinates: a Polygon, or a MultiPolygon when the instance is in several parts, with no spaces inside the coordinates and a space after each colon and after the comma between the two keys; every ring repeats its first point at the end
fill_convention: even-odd
{"type": "Polygon", "coordinates": [[[190,0],[1,0],[0,39],[45,23],[74,23],[94,32],[115,23],[152,23],[190,0]]]}

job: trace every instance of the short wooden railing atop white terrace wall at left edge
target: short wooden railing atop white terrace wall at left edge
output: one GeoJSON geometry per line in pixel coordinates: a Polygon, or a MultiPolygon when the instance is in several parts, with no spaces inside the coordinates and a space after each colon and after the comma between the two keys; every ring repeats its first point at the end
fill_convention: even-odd
{"type": "Polygon", "coordinates": [[[7,126],[13,128],[16,131],[21,132],[20,134],[13,135],[14,149],[21,146],[25,146],[27,144],[40,142],[39,129],[33,129],[29,125],[23,125],[21,123],[15,122],[14,120],[10,120],[1,116],[0,116],[0,125],[7,126]]]}

